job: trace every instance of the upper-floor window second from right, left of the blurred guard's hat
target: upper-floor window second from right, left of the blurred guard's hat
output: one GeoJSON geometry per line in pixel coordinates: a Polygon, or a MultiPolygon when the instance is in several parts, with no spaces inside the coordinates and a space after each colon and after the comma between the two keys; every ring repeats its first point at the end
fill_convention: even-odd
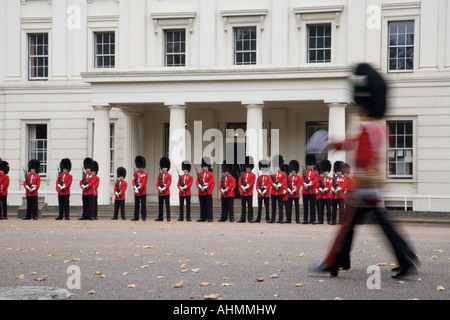
{"type": "Polygon", "coordinates": [[[331,24],[308,26],[308,62],[331,62],[331,24]]]}

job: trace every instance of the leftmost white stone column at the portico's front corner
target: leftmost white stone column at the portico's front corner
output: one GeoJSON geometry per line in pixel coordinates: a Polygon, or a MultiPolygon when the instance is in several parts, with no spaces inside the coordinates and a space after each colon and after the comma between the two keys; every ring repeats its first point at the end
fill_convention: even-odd
{"type": "Polygon", "coordinates": [[[98,204],[109,205],[110,197],[110,126],[109,111],[110,106],[93,106],[95,110],[94,129],[94,161],[98,162],[98,177],[100,185],[98,188],[98,204]]]}

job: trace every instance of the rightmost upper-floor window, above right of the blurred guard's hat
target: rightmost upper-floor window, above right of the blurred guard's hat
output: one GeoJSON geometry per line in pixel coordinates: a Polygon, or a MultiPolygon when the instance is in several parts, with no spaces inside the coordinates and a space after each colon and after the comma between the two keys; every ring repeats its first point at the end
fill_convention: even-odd
{"type": "Polygon", "coordinates": [[[414,21],[389,22],[390,72],[414,69],[414,21]]]}

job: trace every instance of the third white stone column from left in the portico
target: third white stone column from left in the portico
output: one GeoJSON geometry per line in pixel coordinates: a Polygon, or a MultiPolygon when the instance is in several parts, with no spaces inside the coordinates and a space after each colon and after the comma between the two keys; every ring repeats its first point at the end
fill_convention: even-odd
{"type": "Polygon", "coordinates": [[[169,173],[172,175],[170,186],[170,205],[179,205],[178,199],[178,171],[181,174],[181,162],[186,160],[186,105],[184,103],[166,103],[170,110],[169,124],[169,159],[171,162],[169,173]]]}

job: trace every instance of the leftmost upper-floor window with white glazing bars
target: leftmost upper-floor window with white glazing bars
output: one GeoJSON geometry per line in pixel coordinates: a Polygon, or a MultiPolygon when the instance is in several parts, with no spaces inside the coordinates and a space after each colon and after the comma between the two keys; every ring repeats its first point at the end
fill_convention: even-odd
{"type": "Polygon", "coordinates": [[[48,34],[28,35],[28,79],[48,79],[48,34]]]}

